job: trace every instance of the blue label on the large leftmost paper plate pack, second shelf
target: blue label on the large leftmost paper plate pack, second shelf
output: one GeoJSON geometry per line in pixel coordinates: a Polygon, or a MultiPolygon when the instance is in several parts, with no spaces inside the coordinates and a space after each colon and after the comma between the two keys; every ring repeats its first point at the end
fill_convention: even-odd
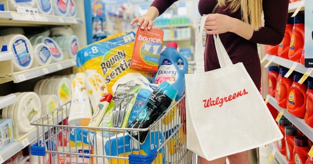
{"type": "Polygon", "coordinates": [[[28,52],[28,47],[24,39],[18,39],[13,43],[13,50],[17,57],[18,64],[22,67],[28,66],[31,58],[28,52]]]}

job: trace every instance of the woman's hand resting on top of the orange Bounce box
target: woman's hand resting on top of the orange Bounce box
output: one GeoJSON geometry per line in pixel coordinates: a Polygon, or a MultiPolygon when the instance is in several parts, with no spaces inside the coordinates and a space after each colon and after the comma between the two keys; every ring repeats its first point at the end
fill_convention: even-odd
{"type": "Polygon", "coordinates": [[[141,30],[148,29],[151,30],[153,26],[153,20],[159,16],[159,11],[156,7],[149,7],[146,14],[144,14],[142,17],[136,17],[131,21],[131,25],[133,25],[135,22],[137,22],[138,27],[141,26],[141,30]]]}

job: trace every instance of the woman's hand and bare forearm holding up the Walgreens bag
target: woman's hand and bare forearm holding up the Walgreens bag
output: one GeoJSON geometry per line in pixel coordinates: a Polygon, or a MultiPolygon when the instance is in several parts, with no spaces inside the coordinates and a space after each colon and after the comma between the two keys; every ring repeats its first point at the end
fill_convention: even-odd
{"type": "Polygon", "coordinates": [[[253,28],[250,24],[247,24],[239,19],[229,17],[223,14],[208,14],[205,22],[205,33],[221,34],[225,32],[233,32],[247,40],[253,35],[253,28]]]}

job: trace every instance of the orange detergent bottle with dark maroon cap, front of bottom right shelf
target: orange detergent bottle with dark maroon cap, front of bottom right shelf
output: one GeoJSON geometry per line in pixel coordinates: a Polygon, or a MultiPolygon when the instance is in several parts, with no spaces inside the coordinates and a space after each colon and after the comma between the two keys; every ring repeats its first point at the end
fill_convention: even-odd
{"type": "Polygon", "coordinates": [[[296,136],[295,148],[293,152],[295,164],[305,163],[309,157],[309,151],[310,148],[308,146],[308,138],[305,136],[296,136]]]}

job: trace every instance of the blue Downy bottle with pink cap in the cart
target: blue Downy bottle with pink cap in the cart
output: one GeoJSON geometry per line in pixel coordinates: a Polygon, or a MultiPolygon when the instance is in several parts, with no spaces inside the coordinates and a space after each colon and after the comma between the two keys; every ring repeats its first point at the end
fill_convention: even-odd
{"type": "Polygon", "coordinates": [[[156,84],[170,83],[178,91],[175,100],[179,100],[185,91],[187,69],[187,59],[177,51],[177,43],[169,42],[164,51],[161,52],[159,68],[153,76],[153,82],[156,84]],[[183,62],[182,70],[177,65],[178,60],[183,62]]]}

